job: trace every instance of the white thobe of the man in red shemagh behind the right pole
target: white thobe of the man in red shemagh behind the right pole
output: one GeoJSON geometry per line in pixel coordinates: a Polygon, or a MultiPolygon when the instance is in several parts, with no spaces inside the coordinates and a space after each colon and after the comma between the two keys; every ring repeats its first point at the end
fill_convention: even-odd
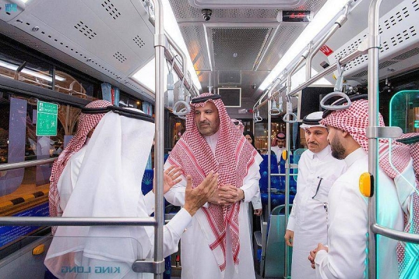
{"type": "MultiPolygon", "coordinates": [[[[328,249],[316,255],[318,278],[365,278],[368,199],[360,193],[359,177],[368,172],[368,154],[359,148],[345,159],[348,170],[333,184],[328,204],[328,249]]],[[[403,204],[400,197],[409,197],[413,188],[409,181],[415,181],[413,168],[407,167],[402,175],[390,179],[378,170],[377,223],[402,231],[404,228],[403,204]],[[403,179],[402,176],[406,179],[403,179]],[[395,184],[396,182],[396,184],[395,184]],[[397,188],[396,188],[397,185],[397,188]]],[[[397,240],[378,236],[378,277],[398,278],[396,255],[397,240]]]]}

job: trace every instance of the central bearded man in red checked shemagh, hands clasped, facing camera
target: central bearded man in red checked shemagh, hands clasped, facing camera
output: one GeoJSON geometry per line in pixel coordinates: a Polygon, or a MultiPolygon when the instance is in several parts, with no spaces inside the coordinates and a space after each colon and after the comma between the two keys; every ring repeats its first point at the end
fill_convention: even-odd
{"type": "MultiPolygon", "coordinates": [[[[230,120],[220,98],[204,93],[191,101],[186,132],[165,165],[182,167],[192,176],[193,187],[209,172],[219,173],[218,189],[182,235],[184,279],[255,278],[248,204],[259,187],[262,158],[230,120]]],[[[166,193],[168,202],[183,206],[185,185],[183,177],[166,193]]]]}

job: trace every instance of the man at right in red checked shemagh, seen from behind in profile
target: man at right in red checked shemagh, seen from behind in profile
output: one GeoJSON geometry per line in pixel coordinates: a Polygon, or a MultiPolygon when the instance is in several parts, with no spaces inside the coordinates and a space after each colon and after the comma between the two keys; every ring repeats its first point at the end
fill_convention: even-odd
{"type": "MultiPolygon", "coordinates": [[[[326,113],[327,114],[327,113],[326,113]]],[[[368,199],[360,193],[360,175],[368,172],[368,101],[355,100],[320,121],[328,127],[332,156],[344,160],[348,169],[333,184],[328,203],[328,246],[318,243],[310,252],[318,278],[365,278],[367,257],[368,199]]],[[[379,126],[384,126],[381,114],[379,126]]],[[[394,144],[390,164],[388,143],[381,140],[378,160],[377,223],[402,231],[415,187],[409,148],[394,144]]],[[[398,278],[397,240],[378,236],[377,278],[398,278]]]]}

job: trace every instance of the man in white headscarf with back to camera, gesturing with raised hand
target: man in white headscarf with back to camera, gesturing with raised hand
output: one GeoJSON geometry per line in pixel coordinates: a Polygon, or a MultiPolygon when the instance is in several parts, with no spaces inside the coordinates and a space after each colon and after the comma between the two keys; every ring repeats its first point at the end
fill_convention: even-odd
{"type": "MultiPolygon", "coordinates": [[[[149,122],[151,117],[146,114],[132,111],[136,119],[108,112],[98,123],[63,217],[149,216],[138,177],[144,173],[149,157],[154,123],[149,122]]],[[[176,172],[166,174],[177,181],[176,172]]],[[[186,180],[184,208],[163,229],[163,257],[177,251],[180,235],[191,223],[192,216],[214,195],[218,174],[210,172],[193,189],[191,176],[186,180]]],[[[60,226],[45,257],[45,266],[58,278],[137,278],[138,273],[131,269],[133,262],[151,258],[153,247],[153,227],[60,226]],[[101,268],[109,268],[117,274],[96,274],[101,268]],[[80,271],[83,274],[80,275],[80,271]]],[[[148,274],[148,277],[153,278],[153,275],[148,274]]],[[[142,275],[142,278],[148,277],[142,275]]]]}

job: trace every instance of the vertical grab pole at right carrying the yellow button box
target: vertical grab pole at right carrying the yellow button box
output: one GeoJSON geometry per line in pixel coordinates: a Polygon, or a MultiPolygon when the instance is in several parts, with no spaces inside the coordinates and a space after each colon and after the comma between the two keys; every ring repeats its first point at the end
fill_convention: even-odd
{"type": "MultiPolygon", "coordinates": [[[[368,11],[368,125],[378,126],[378,20],[381,0],[372,0],[368,11]]],[[[378,139],[368,139],[368,172],[378,178],[378,139]]],[[[374,179],[374,189],[377,179],[374,179]]],[[[372,226],[376,223],[377,195],[369,198],[368,203],[368,277],[376,278],[376,235],[372,226]]]]}

